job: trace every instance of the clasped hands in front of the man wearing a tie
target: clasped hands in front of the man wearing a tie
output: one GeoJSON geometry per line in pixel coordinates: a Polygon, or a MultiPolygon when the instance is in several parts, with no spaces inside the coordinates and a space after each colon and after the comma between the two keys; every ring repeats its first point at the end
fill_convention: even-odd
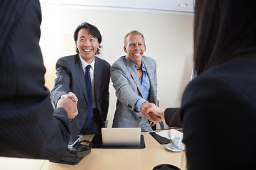
{"type": "Polygon", "coordinates": [[[75,118],[78,115],[78,98],[72,92],[63,94],[57,103],[57,108],[64,108],[68,118],[75,118]]]}

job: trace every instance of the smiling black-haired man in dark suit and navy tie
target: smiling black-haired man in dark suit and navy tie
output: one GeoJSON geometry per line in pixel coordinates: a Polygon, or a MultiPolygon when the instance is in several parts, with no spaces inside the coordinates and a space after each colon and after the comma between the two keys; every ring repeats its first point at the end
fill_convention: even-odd
{"type": "Polygon", "coordinates": [[[110,64],[95,56],[100,54],[100,31],[90,23],[82,23],[75,30],[74,40],[78,54],[58,60],[51,91],[55,105],[68,91],[78,97],[79,115],[72,120],[70,142],[80,133],[100,133],[105,127],[110,96],[110,64]]]}

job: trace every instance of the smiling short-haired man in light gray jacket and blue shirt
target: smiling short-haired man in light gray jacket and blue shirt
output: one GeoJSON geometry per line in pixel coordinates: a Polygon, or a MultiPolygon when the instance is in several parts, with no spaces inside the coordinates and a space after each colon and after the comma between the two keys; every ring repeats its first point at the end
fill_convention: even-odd
{"type": "Polygon", "coordinates": [[[149,120],[142,113],[149,108],[149,102],[158,104],[156,62],[144,56],[145,51],[144,36],[132,30],[124,37],[124,52],[127,55],[112,64],[110,75],[117,96],[113,128],[152,130],[149,120]]]}

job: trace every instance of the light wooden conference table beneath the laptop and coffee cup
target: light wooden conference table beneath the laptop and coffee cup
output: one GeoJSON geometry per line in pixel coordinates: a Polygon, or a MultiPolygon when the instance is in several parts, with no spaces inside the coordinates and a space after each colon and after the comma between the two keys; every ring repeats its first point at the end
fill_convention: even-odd
{"type": "MultiPolygon", "coordinates": [[[[146,147],[144,149],[95,149],[77,165],[58,164],[43,159],[20,159],[0,157],[0,169],[19,170],[60,170],[60,169],[148,169],[159,164],[172,164],[186,170],[185,151],[173,152],[166,149],[149,132],[142,132],[146,147]]],[[[81,140],[92,140],[92,135],[85,135],[81,140]]]]}

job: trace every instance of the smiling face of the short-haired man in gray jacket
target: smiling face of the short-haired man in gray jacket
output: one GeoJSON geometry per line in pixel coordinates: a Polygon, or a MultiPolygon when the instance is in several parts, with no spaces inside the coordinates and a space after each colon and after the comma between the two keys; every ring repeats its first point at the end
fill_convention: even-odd
{"type": "Polygon", "coordinates": [[[127,53],[129,60],[137,64],[138,67],[141,67],[142,55],[145,51],[146,45],[144,44],[142,35],[134,33],[129,34],[124,43],[124,52],[127,53]]]}

